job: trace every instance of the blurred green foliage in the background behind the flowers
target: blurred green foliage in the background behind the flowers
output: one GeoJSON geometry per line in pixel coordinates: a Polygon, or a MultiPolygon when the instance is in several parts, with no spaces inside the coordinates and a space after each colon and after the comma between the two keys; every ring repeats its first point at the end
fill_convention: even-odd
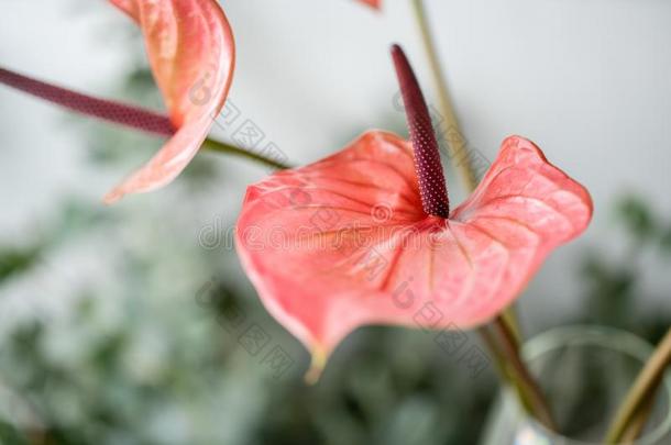
{"type": "MultiPolygon", "coordinates": [[[[22,277],[30,279],[41,255],[48,257],[50,251],[76,243],[88,232],[129,224],[128,215],[111,219],[97,203],[77,201],[64,202],[52,220],[54,229],[40,247],[2,251],[1,263],[13,266],[3,269],[11,274],[2,275],[0,290],[22,277]]],[[[585,254],[580,321],[654,340],[670,318],[640,303],[645,296],[639,259],[651,251],[667,260],[661,255],[669,248],[660,242],[663,229],[653,227],[664,227],[668,221],[630,197],[618,203],[615,220],[630,248],[620,258],[596,248],[585,254]]],[[[343,344],[318,385],[307,386],[301,376],[306,353],[246,285],[221,272],[229,268],[224,259],[212,262],[212,254],[177,226],[167,224],[153,236],[150,248],[123,247],[116,267],[124,282],[113,296],[81,291],[64,318],[26,320],[1,340],[0,383],[19,394],[33,419],[16,421],[7,407],[0,409],[1,443],[476,442],[496,391],[492,370],[471,379],[430,335],[367,327],[343,344]],[[188,267],[202,269],[186,278],[191,293],[165,294],[165,268],[188,267]],[[207,277],[215,279],[207,281],[213,285],[204,299],[198,296],[207,277]],[[232,310],[263,326],[288,352],[295,364],[286,374],[274,378],[241,346],[239,332],[224,316],[232,310]],[[54,343],[59,346],[54,348],[54,343]]],[[[234,253],[215,256],[231,259],[234,253]]]]}

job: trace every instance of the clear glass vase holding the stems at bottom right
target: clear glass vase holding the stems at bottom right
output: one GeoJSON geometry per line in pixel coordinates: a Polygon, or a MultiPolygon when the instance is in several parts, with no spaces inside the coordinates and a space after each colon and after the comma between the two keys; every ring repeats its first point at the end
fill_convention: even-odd
{"type": "MultiPolygon", "coordinates": [[[[530,419],[510,388],[503,388],[490,414],[482,445],[592,445],[606,430],[652,346],[601,326],[561,327],[522,348],[546,394],[559,433],[530,419]]],[[[664,376],[649,420],[631,445],[671,444],[671,377],[664,376]]]]}

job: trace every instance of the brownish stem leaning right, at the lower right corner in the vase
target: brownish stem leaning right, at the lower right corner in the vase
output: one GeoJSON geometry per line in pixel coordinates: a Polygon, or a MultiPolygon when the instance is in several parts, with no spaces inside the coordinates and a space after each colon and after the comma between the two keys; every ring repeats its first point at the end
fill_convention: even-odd
{"type": "Polygon", "coordinates": [[[671,364],[671,329],[658,345],[654,353],[644,369],[640,371],[636,381],[625,397],[623,404],[615,414],[615,419],[608,429],[605,442],[617,444],[628,425],[631,423],[636,413],[644,407],[648,399],[654,396],[654,391],[662,379],[664,370],[671,364]]]}

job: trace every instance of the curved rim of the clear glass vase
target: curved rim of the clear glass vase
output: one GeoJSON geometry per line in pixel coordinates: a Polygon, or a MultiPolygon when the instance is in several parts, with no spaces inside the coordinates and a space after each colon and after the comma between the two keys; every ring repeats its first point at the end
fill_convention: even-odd
{"type": "MultiPolygon", "coordinates": [[[[553,327],[535,335],[527,341],[521,347],[521,354],[525,361],[532,361],[543,354],[551,352],[566,344],[575,346],[593,345],[604,348],[610,348],[630,357],[640,360],[641,365],[646,363],[648,357],[654,351],[653,346],[646,340],[617,327],[595,324],[574,324],[568,326],[553,327]]],[[[639,437],[636,442],[630,442],[628,445],[654,445],[658,444],[671,431],[671,370],[666,370],[660,386],[663,386],[668,400],[668,413],[662,422],[659,423],[652,431],[645,436],[639,437]]],[[[562,436],[548,430],[540,422],[531,421],[535,427],[543,431],[546,434],[556,437],[564,437],[572,445],[596,445],[591,442],[582,442],[571,437],[562,436]]]]}

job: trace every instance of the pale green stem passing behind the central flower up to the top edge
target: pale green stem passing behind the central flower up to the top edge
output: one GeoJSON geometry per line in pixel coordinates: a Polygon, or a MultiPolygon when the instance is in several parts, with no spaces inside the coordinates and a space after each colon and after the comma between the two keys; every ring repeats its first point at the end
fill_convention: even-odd
{"type": "MultiPolygon", "coordinates": [[[[438,91],[438,104],[440,113],[447,123],[444,135],[447,136],[446,141],[452,151],[451,158],[457,160],[454,164],[459,169],[464,189],[468,191],[473,191],[475,190],[475,187],[477,187],[477,175],[475,174],[471,156],[469,155],[466,138],[463,136],[457,120],[454,107],[452,105],[450,92],[446,84],[446,76],[438,57],[438,52],[436,51],[433,37],[431,36],[431,29],[429,21],[427,20],[424,0],[411,0],[411,3],[415,12],[415,21],[417,22],[417,27],[419,29],[421,43],[427,53],[427,59],[431,70],[431,76],[433,78],[433,85],[438,91]]],[[[522,334],[515,308],[510,307],[509,309],[506,309],[503,316],[513,330],[516,348],[519,348],[522,334]]]]}

